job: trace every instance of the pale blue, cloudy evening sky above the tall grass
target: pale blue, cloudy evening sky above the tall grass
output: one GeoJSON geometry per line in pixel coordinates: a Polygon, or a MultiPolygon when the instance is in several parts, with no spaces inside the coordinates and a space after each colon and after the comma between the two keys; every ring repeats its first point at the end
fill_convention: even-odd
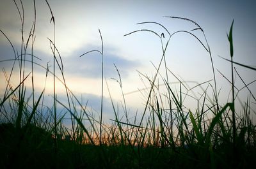
{"type": "MultiPolygon", "coordinates": [[[[24,6],[24,36],[27,39],[34,20],[33,1],[22,1],[24,6]]],[[[49,43],[54,40],[54,29],[51,21],[51,12],[45,1],[36,2],[36,27],[35,46],[33,54],[40,59],[35,59],[38,64],[53,71],[53,57],[49,43]]],[[[17,1],[20,8],[20,1],[17,1]]],[[[256,66],[256,12],[255,1],[49,1],[56,26],[56,47],[63,61],[65,79],[67,85],[77,98],[88,101],[88,107],[100,111],[101,94],[101,55],[99,52],[84,54],[90,50],[101,51],[100,33],[103,40],[104,58],[104,117],[113,118],[111,98],[115,106],[122,110],[122,91],[129,107],[129,113],[134,115],[141,112],[145,105],[145,96],[138,90],[149,87],[149,78],[154,77],[157,66],[161,60],[161,39],[156,34],[148,31],[131,33],[141,29],[150,29],[157,34],[164,34],[163,45],[168,40],[168,33],[157,24],[138,24],[140,22],[157,22],[172,34],[175,31],[191,31],[197,28],[195,24],[186,20],[168,18],[169,16],[184,17],[194,20],[204,30],[207,42],[211,47],[212,60],[216,70],[220,101],[230,101],[231,79],[230,62],[221,57],[230,59],[227,33],[234,19],[234,61],[256,66]],[[221,56],[221,57],[220,57],[221,56]],[[116,80],[119,80],[118,72],[122,79],[122,90],[116,80]],[[218,71],[221,73],[219,73],[218,71]],[[223,77],[223,75],[225,77],[223,77]],[[116,79],[116,80],[113,80],[116,79]],[[106,80],[105,80],[106,79],[106,80]],[[107,84],[111,95],[109,95],[107,84]]],[[[0,29],[12,41],[15,50],[20,51],[21,24],[19,13],[13,1],[1,0],[0,29]]],[[[202,31],[191,32],[207,47],[202,31]]],[[[0,34],[0,67],[10,73],[13,64],[8,59],[14,59],[12,47],[8,40],[0,34]]],[[[60,60],[59,60],[60,61],[60,60]]],[[[191,34],[177,33],[172,36],[166,50],[166,65],[177,77],[186,81],[189,87],[212,80],[212,68],[209,52],[191,34]]],[[[26,73],[29,73],[29,64],[26,73]]],[[[236,65],[237,72],[246,84],[255,80],[255,71],[247,70],[236,65]]],[[[164,75],[164,70],[161,70],[164,75]]],[[[45,88],[48,103],[52,98],[52,76],[49,75],[45,85],[46,71],[40,66],[35,66],[35,89],[38,93],[45,88]]],[[[57,72],[60,75],[60,71],[57,72]]],[[[161,77],[159,77],[161,81],[161,77]]],[[[170,75],[170,82],[177,82],[177,78],[170,75]]],[[[29,80],[28,80],[29,81],[29,80]]],[[[19,73],[15,67],[12,81],[13,85],[19,82],[19,73]]],[[[162,82],[159,82],[163,84],[162,82]]],[[[213,84],[213,81],[211,81],[213,84]]],[[[28,82],[31,89],[31,82],[28,82]]],[[[65,88],[62,84],[56,84],[60,100],[65,102],[65,88]]],[[[3,96],[6,81],[4,73],[0,75],[0,95],[3,96]]],[[[175,85],[173,85],[175,88],[175,85]]],[[[207,84],[202,85],[207,87],[207,84]]],[[[244,87],[243,82],[236,75],[236,87],[244,87]]],[[[255,83],[248,86],[255,94],[255,83]]],[[[197,89],[197,88],[196,88],[197,89]]],[[[195,92],[202,92],[200,89],[195,92]]],[[[179,91],[179,90],[178,90],[179,91]]],[[[198,93],[197,93],[198,94],[198,93]]],[[[248,89],[239,92],[239,97],[244,101],[248,89]]],[[[47,98],[45,98],[47,101],[47,98]]],[[[252,99],[252,105],[255,106],[252,99]]],[[[194,102],[187,100],[189,107],[194,102]]]]}

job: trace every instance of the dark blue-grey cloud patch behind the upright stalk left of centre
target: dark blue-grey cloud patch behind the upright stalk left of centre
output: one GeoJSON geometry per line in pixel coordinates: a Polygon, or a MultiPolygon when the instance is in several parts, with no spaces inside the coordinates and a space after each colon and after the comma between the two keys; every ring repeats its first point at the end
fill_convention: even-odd
{"type": "MultiPolygon", "coordinates": [[[[92,47],[92,49],[97,47],[92,47]]],[[[99,47],[98,47],[99,48],[99,47]]],[[[80,49],[74,52],[72,56],[63,57],[64,71],[67,74],[84,78],[101,78],[101,55],[99,52],[91,52],[89,54],[79,57],[84,54],[84,50],[80,49]]],[[[122,78],[129,76],[129,71],[135,70],[140,66],[140,62],[131,61],[121,57],[118,54],[106,52],[103,55],[104,62],[104,77],[116,77],[116,67],[120,71],[122,78]]]]}

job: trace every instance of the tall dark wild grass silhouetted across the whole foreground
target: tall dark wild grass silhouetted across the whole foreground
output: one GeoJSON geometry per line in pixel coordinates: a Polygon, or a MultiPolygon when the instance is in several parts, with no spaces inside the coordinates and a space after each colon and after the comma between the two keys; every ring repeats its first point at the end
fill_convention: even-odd
{"type": "MultiPolygon", "coordinates": [[[[50,4],[45,2],[51,12],[51,23],[55,34],[54,15],[50,4]]],[[[250,119],[251,115],[255,114],[255,110],[250,107],[250,104],[252,100],[255,101],[255,97],[248,84],[244,83],[243,78],[234,69],[234,64],[253,71],[255,69],[233,61],[232,29],[234,21],[228,33],[230,60],[226,59],[231,63],[232,80],[228,80],[232,85],[231,102],[221,105],[218,101],[220,91],[217,90],[211,49],[202,27],[189,18],[166,17],[191,22],[195,25],[195,29],[192,31],[181,30],[171,34],[157,22],[141,22],[139,24],[156,24],[166,33],[157,34],[150,29],[141,29],[125,34],[125,36],[131,36],[140,32],[153,33],[161,41],[163,53],[159,64],[154,65],[156,73],[153,78],[139,72],[143,82],[150,84],[150,88],[145,89],[145,92],[142,93],[145,96],[145,109],[143,112],[138,112],[138,114],[142,114],[141,118],[136,114],[134,119],[129,119],[123,91],[124,116],[120,117],[121,110],[115,107],[107,84],[115,119],[112,120],[112,124],[104,124],[102,122],[103,99],[101,99],[99,119],[96,119],[94,112],[90,112],[86,105],[83,105],[83,102],[79,101],[68,89],[65,82],[65,66],[56,47],[55,35],[53,40],[49,39],[54,62],[53,70],[49,70],[48,65],[44,67],[34,60],[35,1],[35,20],[27,40],[23,34],[24,8],[22,1],[20,1],[20,5],[15,2],[15,5],[22,24],[22,40],[19,52],[15,50],[12,41],[4,34],[4,31],[0,30],[12,46],[14,55],[14,59],[8,61],[13,62],[10,73],[3,69],[6,87],[0,98],[1,168],[253,168],[256,158],[256,126],[250,119]],[[195,31],[204,34],[205,42],[193,34],[195,31]],[[210,57],[214,84],[204,82],[196,85],[195,87],[202,89],[199,98],[190,96],[189,91],[193,89],[189,88],[186,82],[177,78],[166,65],[168,43],[173,34],[178,33],[193,36],[205,48],[205,52],[210,57]],[[166,43],[163,40],[166,40],[166,43]],[[205,43],[206,45],[204,45],[205,43]],[[28,48],[32,49],[31,53],[28,52],[28,48]],[[10,81],[13,73],[15,73],[13,70],[15,70],[17,62],[19,65],[19,85],[12,86],[10,81]],[[31,64],[31,70],[29,70],[31,73],[26,73],[28,63],[31,64]],[[53,105],[44,105],[44,90],[35,91],[33,81],[35,66],[45,69],[45,82],[47,75],[54,77],[53,105]],[[160,68],[164,68],[163,75],[160,68]],[[61,78],[56,76],[56,71],[60,71],[61,78]],[[243,112],[236,112],[235,110],[237,103],[235,94],[239,92],[236,90],[234,82],[235,73],[249,92],[248,99],[242,103],[243,112]],[[169,81],[170,76],[179,81],[179,90],[173,89],[169,81]],[[25,85],[28,78],[32,79],[31,86],[33,89],[31,93],[28,93],[25,85]],[[56,80],[65,86],[67,104],[62,103],[57,97],[56,80]],[[204,89],[203,84],[208,84],[208,87],[204,89]],[[160,85],[164,85],[164,91],[160,89],[160,85]],[[39,94],[36,94],[37,92],[39,94]],[[211,94],[212,98],[210,97],[211,94]],[[27,96],[30,96],[28,100],[25,99],[27,96]],[[184,106],[184,100],[187,97],[197,101],[198,108],[195,112],[191,112],[189,108],[184,106]],[[57,105],[63,108],[62,115],[57,114],[57,105]],[[63,125],[66,114],[70,114],[72,124],[70,128],[63,125]],[[84,123],[84,119],[89,122],[89,125],[84,123]]],[[[89,52],[98,52],[101,56],[103,93],[104,53],[100,31],[99,34],[102,50],[89,52]]],[[[118,73],[119,78],[114,80],[122,89],[122,78],[118,68],[116,68],[116,73],[118,73]]],[[[252,83],[254,82],[255,80],[252,81],[252,83]]]]}

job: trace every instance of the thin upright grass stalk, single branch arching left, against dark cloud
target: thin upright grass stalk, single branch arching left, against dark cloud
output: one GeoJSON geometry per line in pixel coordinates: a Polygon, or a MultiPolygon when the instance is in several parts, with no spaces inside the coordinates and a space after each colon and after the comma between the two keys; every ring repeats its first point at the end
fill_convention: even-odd
{"type": "Polygon", "coordinates": [[[102,35],[100,33],[99,29],[99,34],[100,34],[100,41],[101,41],[101,51],[99,50],[90,50],[89,52],[86,52],[79,57],[86,55],[90,52],[99,52],[101,55],[101,104],[100,104],[100,145],[102,144],[102,113],[103,113],[103,76],[104,76],[104,67],[103,67],[103,40],[102,40],[102,35]]]}

